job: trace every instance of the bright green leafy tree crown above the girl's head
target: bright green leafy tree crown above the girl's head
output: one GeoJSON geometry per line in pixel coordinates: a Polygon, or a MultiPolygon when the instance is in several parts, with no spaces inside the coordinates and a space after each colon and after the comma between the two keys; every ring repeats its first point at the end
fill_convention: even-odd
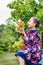
{"type": "MultiPolygon", "coordinates": [[[[27,29],[27,22],[32,16],[37,16],[40,19],[40,23],[43,23],[43,4],[42,0],[39,0],[39,4],[35,0],[15,0],[9,3],[7,6],[12,9],[11,17],[14,21],[22,19],[25,23],[25,29],[27,29]]],[[[41,28],[43,28],[41,26],[41,28]]]]}

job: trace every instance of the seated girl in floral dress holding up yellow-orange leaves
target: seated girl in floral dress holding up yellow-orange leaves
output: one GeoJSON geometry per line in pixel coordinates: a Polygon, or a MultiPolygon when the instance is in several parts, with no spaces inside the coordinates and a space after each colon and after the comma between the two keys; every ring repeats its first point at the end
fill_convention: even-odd
{"type": "Polygon", "coordinates": [[[20,62],[20,65],[25,65],[25,62],[29,65],[40,65],[39,62],[42,58],[42,52],[40,33],[38,31],[39,25],[39,20],[36,17],[32,17],[28,22],[29,29],[19,32],[24,34],[24,43],[26,45],[26,48],[15,54],[20,62]]]}

